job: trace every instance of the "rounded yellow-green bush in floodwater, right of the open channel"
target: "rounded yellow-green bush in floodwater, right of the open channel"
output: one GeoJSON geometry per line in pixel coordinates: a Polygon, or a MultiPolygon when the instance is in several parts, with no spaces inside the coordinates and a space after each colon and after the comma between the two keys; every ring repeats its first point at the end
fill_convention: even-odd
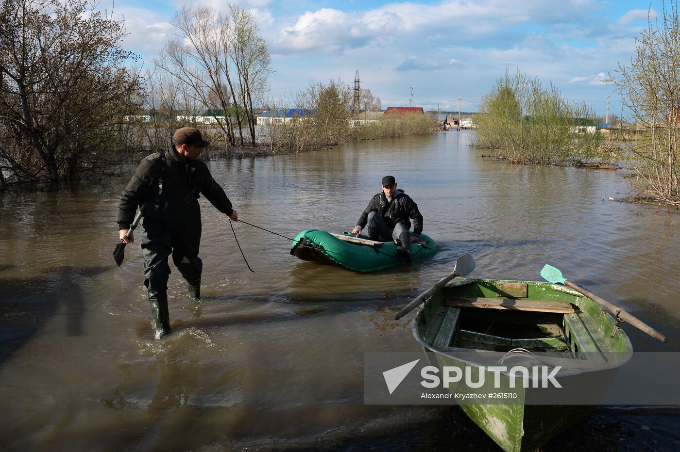
{"type": "Polygon", "coordinates": [[[517,70],[496,79],[473,117],[475,145],[522,164],[562,164],[598,155],[600,134],[585,103],[566,100],[550,85],[543,88],[517,70]]]}

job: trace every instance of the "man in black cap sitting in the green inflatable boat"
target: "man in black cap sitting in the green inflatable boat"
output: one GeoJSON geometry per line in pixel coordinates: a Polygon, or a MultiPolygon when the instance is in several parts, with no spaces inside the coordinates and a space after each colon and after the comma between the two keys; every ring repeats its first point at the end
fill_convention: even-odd
{"type": "Polygon", "coordinates": [[[373,196],[369,206],[361,214],[353,234],[361,233],[368,225],[368,236],[371,240],[394,240],[401,244],[397,252],[407,262],[411,262],[411,242],[420,238],[423,231],[423,216],[418,205],[403,190],[396,189],[394,176],[382,178],[381,193],[373,196]],[[413,233],[409,234],[413,219],[413,233]]]}

